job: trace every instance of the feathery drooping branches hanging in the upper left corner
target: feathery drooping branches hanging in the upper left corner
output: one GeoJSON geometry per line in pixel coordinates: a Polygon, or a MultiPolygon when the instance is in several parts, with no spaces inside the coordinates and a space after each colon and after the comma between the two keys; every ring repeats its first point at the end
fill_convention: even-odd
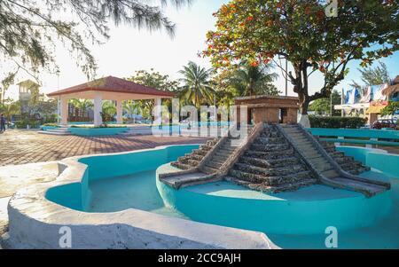
{"type": "MultiPolygon", "coordinates": [[[[179,7],[190,2],[162,0],[161,4],[179,7]]],[[[17,72],[20,68],[34,73],[43,67],[56,70],[54,51],[60,42],[82,71],[94,76],[97,66],[87,44],[108,39],[111,22],[150,31],[165,29],[171,36],[175,32],[175,24],[160,6],[139,0],[4,0],[0,14],[1,59],[16,66],[17,72]]]]}

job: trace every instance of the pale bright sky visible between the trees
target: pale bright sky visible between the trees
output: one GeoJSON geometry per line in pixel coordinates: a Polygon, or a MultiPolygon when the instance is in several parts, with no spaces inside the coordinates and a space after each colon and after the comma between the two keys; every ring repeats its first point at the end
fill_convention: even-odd
{"type": "MultiPolygon", "coordinates": [[[[102,45],[90,46],[91,52],[97,60],[98,77],[113,75],[128,77],[135,71],[153,68],[161,74],[169,75],[172,79],[180,78],[178,71],[192,60],[202,67],[211,67],[209,59],[200,59],[198,53],[206,48],[205,40],[208,30],[215,28],[215,18],[212,13],[217,11],[228,0],[194,0],[191,7],[176,10],[173,6],[165,9],[168,18],[176,23],[176,37],[171,39],[165,32],[149,33],[145,29],[134,27],[111,27],[111,38],[102,45]]],[[[43,93],[65,89],[82,82],[87,82],[86,75],[77,67],[67,51],[62,46],[56,51],[57,63],[60,68],[59,77],[42,72],[40,75],[43,93]]],[[[387,64],[392,78],[399,75],[399,52],[387,59],[381,59],[387,64]]],[[[335,88],[348,88],[348,84],[355,80],[361,83],[357,70],[359,61],[348,64],[349,74],[344,81],[335,88]]],[[[284,64],[283,64],[284,65],[284,64]]],[[[291,69],[291,66],[289,66],[291,69]]],[[[279,78],[275,83],[278,90],[284,93],[286,81],[278,67],[275,68],[279,78]]],[[[29,78],[19,75],[17,82],[29,78]]],[[[17,83],[16,82],[16,83],[17,83]]],[[[309,90],[319,90],[323,84],[323,76],[315,73],[310,76],[309,90]]],[[[295,96],[292,85],[288,82],[288,95],[295,96]]],[[[6,97],[18,98],[17,86],[12,86],[6,97]]]]}

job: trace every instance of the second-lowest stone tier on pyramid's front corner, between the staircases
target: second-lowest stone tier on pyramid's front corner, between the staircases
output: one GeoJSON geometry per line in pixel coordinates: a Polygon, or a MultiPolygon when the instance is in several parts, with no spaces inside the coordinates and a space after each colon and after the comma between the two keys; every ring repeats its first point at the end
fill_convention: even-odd
{"type": "Polygon", "coordinates": [[[312,173],[309,170],[297,172],[295,174],[290,174],[286,176],[267,177],[267,176],[247,173],[238,169],[231,169],[230,175],[232,177],[238,178],[239,180],[244,180],[255,184],[264,183],[266,185],[282,185],[286,183],[293,183],[296,181],[300,181],[303,178],[313,177],[312,173]]]}

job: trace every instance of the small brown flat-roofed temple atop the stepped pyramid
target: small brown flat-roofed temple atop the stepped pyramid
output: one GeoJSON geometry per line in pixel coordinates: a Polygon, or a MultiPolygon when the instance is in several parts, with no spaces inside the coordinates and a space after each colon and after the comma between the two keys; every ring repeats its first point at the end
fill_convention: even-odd
{"type": "MultiPolygon", "coordinates": [[[[253,96],[235,98],[235,105],[247,106],[248,121],[252,123],[297,123],[299,99],[295,97],[253,96]]],[[[239,120],[239,114],[238,114],[239,120]]]]}

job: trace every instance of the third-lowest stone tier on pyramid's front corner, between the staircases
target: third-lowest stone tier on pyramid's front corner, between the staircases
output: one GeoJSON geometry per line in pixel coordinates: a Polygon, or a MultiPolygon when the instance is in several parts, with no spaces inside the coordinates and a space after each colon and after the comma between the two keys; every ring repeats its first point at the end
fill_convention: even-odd
{"type": "Polygon", "coordinates": [[[245,163],[236,163],[234,165],[234,169],[266,177],[286,176],[305,170],[305,168],[303,168],[301,165],[285,166],[279,168],[261,168],[245,163]]]}

